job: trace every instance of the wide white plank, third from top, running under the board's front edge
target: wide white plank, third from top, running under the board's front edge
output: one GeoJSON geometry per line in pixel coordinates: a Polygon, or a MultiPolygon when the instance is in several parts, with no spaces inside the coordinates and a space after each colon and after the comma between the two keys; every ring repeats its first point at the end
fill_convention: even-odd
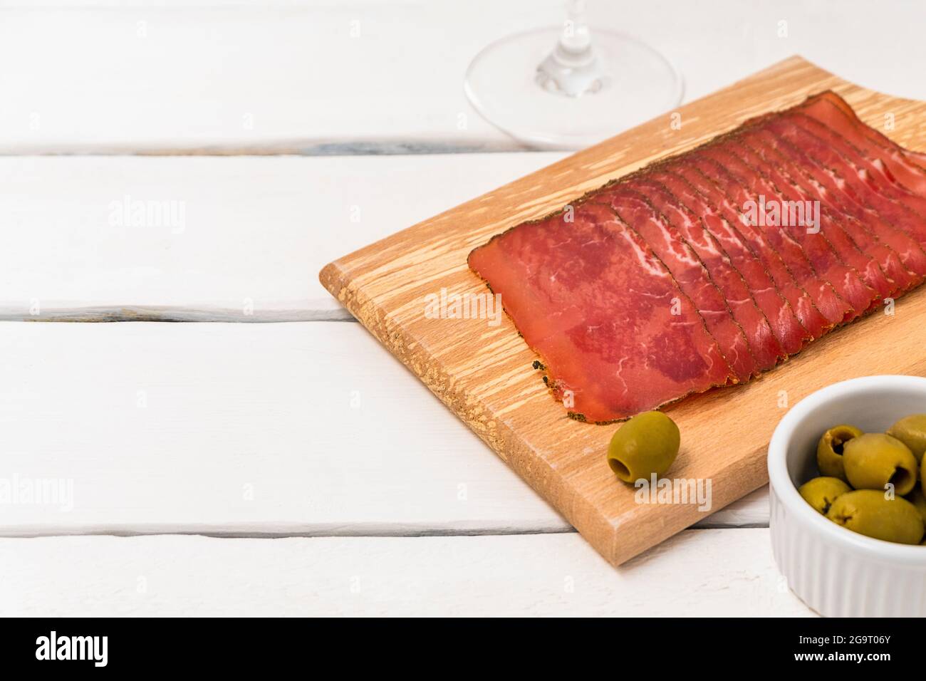
{"type": "Polygon", "coordinates": [[[0,327],[0,535],[570,531],[359,324],[0,327]]]}

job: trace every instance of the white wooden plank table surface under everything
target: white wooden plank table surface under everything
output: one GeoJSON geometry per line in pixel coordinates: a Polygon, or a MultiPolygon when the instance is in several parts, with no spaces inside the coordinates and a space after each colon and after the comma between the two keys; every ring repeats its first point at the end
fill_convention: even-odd
{"type": "MultiPolygon", "coordinates": [[[[64,492],[0,503],[0,614],[812,614],[764,490],[615,570],[318,284],[562,158],[465,100],[559,20],[498,5],[0,6],[0,486],[64,492]]],[[[687,98],[793,53],[926,97],[921,6],[622,5],[687,98]]]]}

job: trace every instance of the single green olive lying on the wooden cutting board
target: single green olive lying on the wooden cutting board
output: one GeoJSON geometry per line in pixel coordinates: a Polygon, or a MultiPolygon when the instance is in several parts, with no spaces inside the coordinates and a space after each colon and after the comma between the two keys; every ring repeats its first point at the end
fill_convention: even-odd
{"type": "Polygon", "coordinates": [[[625,483],[664,475],[679,453],[679,427],[661,411],[644,411],[611,437],[607,465],[625,483]]]}

